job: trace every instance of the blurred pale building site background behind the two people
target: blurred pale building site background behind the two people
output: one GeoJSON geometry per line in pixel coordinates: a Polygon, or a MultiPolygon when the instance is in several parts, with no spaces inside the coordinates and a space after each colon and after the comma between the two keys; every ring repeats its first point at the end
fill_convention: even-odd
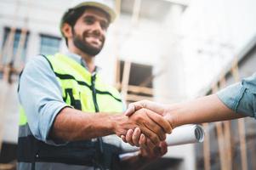
{"type": "MultiPolygon", "coordinates": [[[[0,0],[0,169],[15,165],[20,71],[37,54],[65,52],[70,0],[0,0]]],[[[212,94],[256,71],[255,0],[116,0],[119,17],[96,57],[129,103],[172,104],[212,94]]],[[[29,97],[29,96],[28,96],[29,97]]],[[[173,146],[145,169],[256,169],[256,124],[203,124],[202,144],[173,146]]]]}

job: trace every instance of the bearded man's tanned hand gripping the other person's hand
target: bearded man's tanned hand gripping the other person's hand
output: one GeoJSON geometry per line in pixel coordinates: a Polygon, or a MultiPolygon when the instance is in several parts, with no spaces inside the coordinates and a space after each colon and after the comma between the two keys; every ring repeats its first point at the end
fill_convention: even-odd
{"type": "Polygon", "coordinates": [[[140,131],[144,133],[149,145],[157,145],[160,141],[166,139],[166,133],[171,133],[172,127],[162,116],[146,109],[136,111],[127,119],[119,119],[115,126],[115,133],[118,136],[126,135],[128,129],[129,133],[133,133],[135,127],[139,127],[140,131]]]}

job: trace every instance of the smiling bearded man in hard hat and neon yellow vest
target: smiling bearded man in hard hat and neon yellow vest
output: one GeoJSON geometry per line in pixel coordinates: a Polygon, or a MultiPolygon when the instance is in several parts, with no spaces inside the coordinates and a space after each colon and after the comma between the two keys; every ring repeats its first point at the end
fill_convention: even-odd
{"type": "Polygon", "coordinates": [[[146,110],[120,114],[120,94],[94,65],[116,17],[112,4],[83,0],[71,6],[60,23],[69,51],[27,63],[18,88],[18,169],[135,169],[167,152],[162,141],[171,132],[168,121],[146,110]],[[138,156],[120,161],[119,148],[105,143],[105,136],[120,137],[128,129],[144,133],[146,145],[138,156]]]}

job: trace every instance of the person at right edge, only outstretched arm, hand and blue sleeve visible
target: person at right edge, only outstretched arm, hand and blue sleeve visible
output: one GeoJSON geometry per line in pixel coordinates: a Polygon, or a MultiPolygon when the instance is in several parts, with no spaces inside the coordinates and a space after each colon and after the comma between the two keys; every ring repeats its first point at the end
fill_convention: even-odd
{"type": "MultiPolygon", "coordinates": [[[[149,109],[155,114],[164,116],[173,128],[191,123],[226,121],[245,116],[256,118],[256,73],[236,84],[220,90],[217,94],[208,95],[185,103],[162,105],[142,100],[128,106],[126,114],[133,115],[139,109],[149,109]]],[[[143,134],[143,133],[142,133],[143,134]]],[[[141,133],[128,130],[122,140],[132,145],[143,145],[139,140],[141,133]]]]}

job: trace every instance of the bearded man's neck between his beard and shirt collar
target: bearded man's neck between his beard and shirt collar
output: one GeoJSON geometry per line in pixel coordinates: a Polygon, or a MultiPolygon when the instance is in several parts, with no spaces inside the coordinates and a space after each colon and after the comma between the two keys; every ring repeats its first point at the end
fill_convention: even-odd
{"type": "Polygon", "coordinates": [[[79,48],[75,47],[73,44],[69,44],[69,50],[71,51],[71,53],[80,55],[82,59],[86,62],[88,66],[88,71],[91,73],[94,72],[94,56],[83,53],[79,48]]]}

